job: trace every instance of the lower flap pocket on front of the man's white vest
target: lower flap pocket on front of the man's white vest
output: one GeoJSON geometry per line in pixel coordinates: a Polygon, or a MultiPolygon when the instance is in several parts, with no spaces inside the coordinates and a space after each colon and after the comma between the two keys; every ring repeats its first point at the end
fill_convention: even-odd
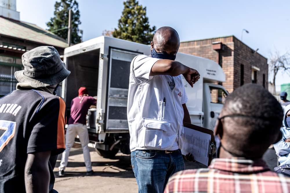
{"type": "Polygon", "coordinates": [[[143,118],[142,124],[145,129],[144,148],[161,148],[162,133],[170,127],[171,123],[163,120],[143,118]]]}

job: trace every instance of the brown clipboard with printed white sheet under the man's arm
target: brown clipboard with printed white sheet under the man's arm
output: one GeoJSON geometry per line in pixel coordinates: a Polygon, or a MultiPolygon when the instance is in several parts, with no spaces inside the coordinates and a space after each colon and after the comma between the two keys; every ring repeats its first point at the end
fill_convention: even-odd
{"type": "Polygon", "coordinates": [[[209,166],[216,151],[213,131],[186,122],[183,122],[183,127],[182,154],[190,152],[196,161],[209,166]]]}

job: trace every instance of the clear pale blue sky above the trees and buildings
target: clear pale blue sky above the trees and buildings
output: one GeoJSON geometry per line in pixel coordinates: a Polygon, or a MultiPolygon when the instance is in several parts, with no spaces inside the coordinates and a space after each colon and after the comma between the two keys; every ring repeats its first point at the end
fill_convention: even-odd
{"type": "MultiPolygon", "coordinates": [[[[122,0],[78,0],[80,29],[84,41],[102,35],[103,30],[117,27],[123,10],[122,0]]],[[[147,7],[150,25],[157,28],[171,26],[177,30],[181,41],[234,35],[253,49],[269,58],[275,50],[290,52],[290,1],[185,1],[139,0],[147,7]]],[[[53,16],[55,0],[17,0],[20,19],[46,27],[53,16]]],[[[287,74],[278,74],[276,85],[290,83],[287,74]]],[[[270,79],[271,80],[271,79],[270,79]]]]}

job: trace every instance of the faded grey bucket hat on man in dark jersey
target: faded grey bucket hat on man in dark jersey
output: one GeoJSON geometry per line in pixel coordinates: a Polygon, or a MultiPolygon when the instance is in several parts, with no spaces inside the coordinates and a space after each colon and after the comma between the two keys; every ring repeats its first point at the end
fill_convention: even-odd
{"type": "Polygon", "coordinates": [[[16,71],[15,78],[35,88],[59,84],[70,74],[52,46],[39,46],[24,53],[22,64],[24,70],[16,71]]]}

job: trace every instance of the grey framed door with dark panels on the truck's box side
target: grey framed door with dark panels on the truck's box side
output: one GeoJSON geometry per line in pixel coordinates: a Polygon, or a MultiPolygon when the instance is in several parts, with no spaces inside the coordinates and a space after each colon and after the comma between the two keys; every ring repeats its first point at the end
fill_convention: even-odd
{"type": "Polygon", "coordinates": [[[110,48],[106,130],[128,131],[127,99],[130,64],[138,52],[110,48]]]}

